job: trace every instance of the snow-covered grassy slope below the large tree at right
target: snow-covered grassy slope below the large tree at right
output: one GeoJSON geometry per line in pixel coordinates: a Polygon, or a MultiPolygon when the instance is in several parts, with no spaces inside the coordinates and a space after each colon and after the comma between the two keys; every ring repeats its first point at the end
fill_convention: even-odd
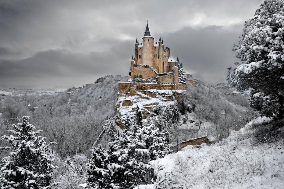
{"type": "Polygon", "coordinates": [[[157,188],[284,188],[283,138],[276,143],[254,139],[252,126],[269,120],[258,118],[214,145],[186,146],[152,161],[157,179],[149,188],[158,182],[157,188]]]}

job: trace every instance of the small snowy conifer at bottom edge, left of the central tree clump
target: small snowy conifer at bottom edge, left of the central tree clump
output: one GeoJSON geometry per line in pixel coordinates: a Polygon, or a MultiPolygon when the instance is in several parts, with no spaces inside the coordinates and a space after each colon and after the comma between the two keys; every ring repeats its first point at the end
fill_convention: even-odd
{"type": "Polygon", "coordinates": [[[86,175],[86,183],[81,184],[86,189],[110,188],[110,170],[108,154],[105,149],[99,145],[93,147],[92,157],[87,163],[88,170],[86,175]]]}

